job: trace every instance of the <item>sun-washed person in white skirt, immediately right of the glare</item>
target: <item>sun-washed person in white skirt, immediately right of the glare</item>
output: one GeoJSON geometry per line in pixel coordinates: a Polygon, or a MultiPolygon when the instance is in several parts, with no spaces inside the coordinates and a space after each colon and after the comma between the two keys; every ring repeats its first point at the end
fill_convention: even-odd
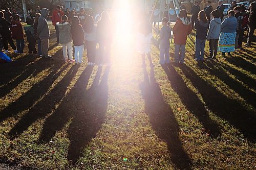
{"type": "Polygon", "coordinates": [[[152,39],[152,24],[148,19],[148,15],[144,14],[141,19],[141,23],[138,26],[137,33],[137,50],[141,54],[142,66],[146,65],[145,63],[145,54],[147,55],[147,59],[150,62],[150,66],[154,67],[155,65],[152,62],[152,58],[150,55],[151,52],[151,39],[152,39]]]}

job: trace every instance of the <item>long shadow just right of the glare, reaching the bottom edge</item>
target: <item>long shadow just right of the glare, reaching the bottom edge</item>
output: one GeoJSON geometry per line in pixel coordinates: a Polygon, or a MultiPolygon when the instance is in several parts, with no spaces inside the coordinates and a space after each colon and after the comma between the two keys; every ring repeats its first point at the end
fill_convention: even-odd
{"type": "Polygon", "coordinates": [[[159,138],[167,143],[172,154],[171,161],[178,168],[190,169],[190,158],[179,138],[179,125],[172,108],[164,101],[159,84],[155,81],[153,69],[150,71],[149,79],[144,67],[144,82],[140,84],[140,89],[145,101],[145,112],[159,138]]]}

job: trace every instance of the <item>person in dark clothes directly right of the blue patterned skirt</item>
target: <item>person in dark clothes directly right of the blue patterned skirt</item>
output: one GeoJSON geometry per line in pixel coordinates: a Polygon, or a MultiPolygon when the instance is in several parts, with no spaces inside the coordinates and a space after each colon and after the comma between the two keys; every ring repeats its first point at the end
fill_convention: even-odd
{"type": "Polygon", "coordinates": [[[242,42],[243,42],[243,26],[242,26],[242,22],[243,22],[243,14],[242,14],[242,8],[240,6],[234,7],[234,16],[237,18],[238,20],[238,26],[237,26],[237,35],[236,35],[236,44],[235,44],[235,48],[239,49],[242,47],[242,42]]]}

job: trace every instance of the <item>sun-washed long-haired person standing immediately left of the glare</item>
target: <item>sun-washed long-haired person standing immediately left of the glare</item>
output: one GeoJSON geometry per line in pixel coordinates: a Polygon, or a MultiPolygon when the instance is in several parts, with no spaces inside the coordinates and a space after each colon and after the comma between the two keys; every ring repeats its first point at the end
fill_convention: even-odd
{"type": "Polygon", "coordinates": [[[99,65],[103,65],[103,63],[110,65],[113,28],[112,21],[107,11],[101,13],[100,20],[97,23],[96,35],[100,50],[99,65]]]}

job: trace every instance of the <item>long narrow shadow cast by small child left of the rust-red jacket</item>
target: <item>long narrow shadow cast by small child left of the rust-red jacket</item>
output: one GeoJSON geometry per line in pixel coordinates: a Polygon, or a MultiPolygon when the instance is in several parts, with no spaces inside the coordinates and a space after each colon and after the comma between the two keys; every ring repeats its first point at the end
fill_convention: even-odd
{"type": "Polygon", "coordinates": [[[211,120],[208,111],[199,100],[196,93],[187,87],[182,77],[176,72],[172,65],[168,67],[163,66],[163,69],[168,76],[170,85],[178,93],[185,107],[198,118],[199,122],[209,132],[211,137],[218,137],[220,135],[220,127],[211,120]]]}

